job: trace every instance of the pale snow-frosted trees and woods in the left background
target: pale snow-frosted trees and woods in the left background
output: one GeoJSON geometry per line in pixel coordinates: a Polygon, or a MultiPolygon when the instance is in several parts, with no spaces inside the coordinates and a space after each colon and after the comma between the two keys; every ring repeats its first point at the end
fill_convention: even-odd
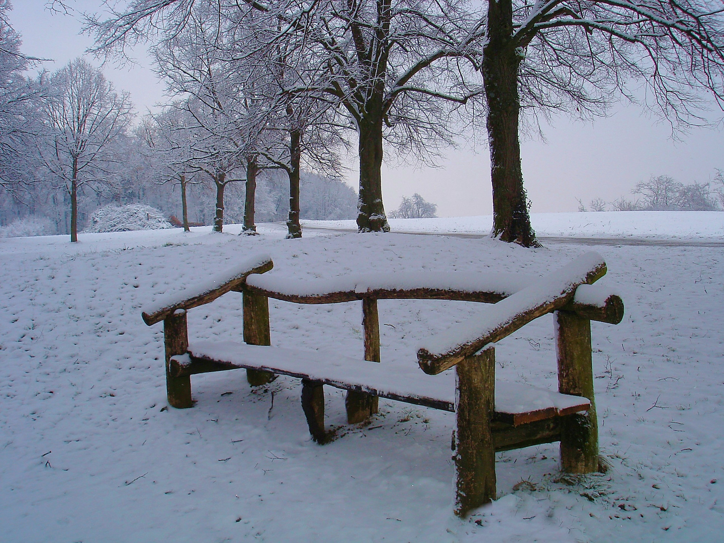
{"type": "MultiPolygon", "coordinates": [[[[186,47],[182,35],[181,46],[166,43],[156,49],[159,72],[167,78],[169,92],[180,98],[133,126],[127,93],[114,90],[101,70],[83,59],[53,74],[24,77],[22,71],[40,59],[29,59],[20,51],[20,36],[7,21],[9,9],[7,1],[0,0],[0,224],[13,216],[46,215],[64,225],[57,230],[70,232],[71,240],[77,241],[83,216],[109,201],[143,201],[177,213],[178,198],[169,188],[178,186],[188,228],[190,207],[197,221],[206,222],[209,202],[204,189],[209,181],[216,189],[211,202],[215,229],[221,231],[224,190],[243,180],[244,187],[237,183],[232,190],[231,215],[232,220],[240,219],[237,202],[245,201],[245,230],[253,232],[257,200],[262,219],[287,215],[282,170],[294,178],[290,234],[300,235],[300,182],[308,197],[301,208],[306,216],[353,216],[353,191],[342,182],[302,174],[300,161],[285,158],[282,130],[272,122],[279,110],[260,111],[262,102],[243,91],[244,82],[216,67],[213,49],[205,56],[198,54],[186,47]],[[260,140],[265,146],[256,145],[260,140]],[[256,174],[264,170],[256,198],[256,174]]],[[[195,31],[203,35],[205,29],[199,22],[195,31]]],[[[288,120],[286,110],[284,114],[288,120]]],[[[314,151],[313,146],[307,148],[314,151]]],[[[339,171],[334,153],[316,164],[322,172],[339,171]]]]}

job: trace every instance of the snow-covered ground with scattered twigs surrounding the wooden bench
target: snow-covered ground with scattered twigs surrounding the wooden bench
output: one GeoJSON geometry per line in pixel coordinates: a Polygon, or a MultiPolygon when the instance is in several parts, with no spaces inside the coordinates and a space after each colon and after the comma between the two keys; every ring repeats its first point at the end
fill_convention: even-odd
{"type": "MultiPolygon", "coordinates": [[[[429,219],[423,230],[485,232],[484,220],[429,219]]],[[[654,240],[723,241],[723,221],[724,213],[694,212],[534,216],[542,236],[654,240]]],[[[413,230],[407,224],[393,228],[413,230]]],[[[1,542],[721,541],[724,248],[594,248],[608,263],[602,282],[626,304],[618,326],[592,323],[610,469],[562,476],[557,445],[500,453],[499,499],[460,521],[452,413],[381,400],[369,426],[346,427],[319,446],[297,380],[251,390],[241,370],[193,376],[195,407],[167,408],[162,325],[146,327],[141,308],[257,251],[271,254],[278,277],[337,277],[544,274],[590,248],[311,229],[284,240],[279,225],[261,225],[256,237],[226,230],[0,240],[1,542]]],[[[382,300],[379,311],[383,363],[415,364],[418,342],[475,307],[382,300]]],[[[274,345],[362,354],[359,303],[270,300],[270,312],[274,345]]],[[[240,340],[241,327],[235,292],[189,311],[195,339],[240,340]]],[[[546,316],[500,342],[497,378],[555,389],[552,333],[546,316]]],[[[327,425],[342,425],[342,392],[327,389],[327,425]]]]}

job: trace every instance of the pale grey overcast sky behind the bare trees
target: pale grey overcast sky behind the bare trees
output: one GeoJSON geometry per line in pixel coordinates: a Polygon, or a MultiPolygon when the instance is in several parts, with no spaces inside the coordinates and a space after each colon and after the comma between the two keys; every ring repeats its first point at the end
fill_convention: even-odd
{"type": "MultiPolygon", "coordinates": [[[[75,15],[103,9],[102,0],[67,3],[75,15]]],[[[10,20],[22,34],[22,51],[54,59],[43,63],[47,70],[82,56],[93,44],[89,36],[79,35],[77,17],[51,14],[45,9],[46,0],[13,0],[13,5],[10,20]]],[[[92,56],[86,58],[98,64],[92,56]]],[[[164,101],[164,85],[151,71],[143,49],[138,51],[138,62],[130,69],[108,66],[105,72],[117,88],[130,92],[136,110],[145,113],[164,101]]],[[[633,185],[651,175],[668,174],[684,183],[708,182],[715,168],[724,169],[722,130],[694,129],[674,141],[665,122],[647,117],[635,106],[622,105],[593,124],[555,118],[543,129],[545,142],[527,140],[522,146],[523,177],[534,212],[576,211],[576,198],[586,204],[592,198],[632,198],[633,185]]],[[[400,167],[397,161],[385,166],[385,209],[395,209],[403,195],[417,192],[437,203],[439,216],[491,214],[487,148],[463,145],[445,154],[435,169],[416,164],[400,167]]],[[[355,175],[350,169],[347,181],[356,188],[355,175]]]]}

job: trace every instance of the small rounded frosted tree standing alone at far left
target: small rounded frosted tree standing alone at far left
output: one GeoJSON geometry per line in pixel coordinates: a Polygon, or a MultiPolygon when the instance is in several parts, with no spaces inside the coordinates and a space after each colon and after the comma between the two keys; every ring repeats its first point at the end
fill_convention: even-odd
{"type": "MultiPolygon", "coordinates": [[[[43,80],[43,75],[40,80],[43,80]]],[[[70,196],[70,240],[78,240],[78,191],[111,188],[119,146],[133,114],[128,93],[118,94],[103,72],[75,59],[49,77],[43,101],[41,159],[51,184],[70,196]]]]}

